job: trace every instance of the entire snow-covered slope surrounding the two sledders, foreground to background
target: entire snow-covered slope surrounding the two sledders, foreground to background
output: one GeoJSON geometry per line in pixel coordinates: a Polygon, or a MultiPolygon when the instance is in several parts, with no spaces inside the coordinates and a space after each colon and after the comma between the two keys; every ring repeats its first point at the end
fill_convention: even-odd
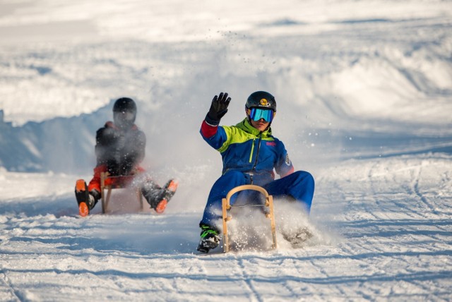
{"type": "MultiPolygon", "coordinates": [[[[0,8],[1,301],[452,299],[451,1],[0,8]],[[314,174],[316,236],[196,255],[221,170],[199,126],[213,95],[230,93],[233,124],[255,90],[275,95],[273,133],[314,174]],[[165,215],[132,200],[81,219],[73,185],[122,96],[138,102],[145,167],[179,191],[165,215]]],[[[275,211],[278,228],[308,223],[275,211]]]]}

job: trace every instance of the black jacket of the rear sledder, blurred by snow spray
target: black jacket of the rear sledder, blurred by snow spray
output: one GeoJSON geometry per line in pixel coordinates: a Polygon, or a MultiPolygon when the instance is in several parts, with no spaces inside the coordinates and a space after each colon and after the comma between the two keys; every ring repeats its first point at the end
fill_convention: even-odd
{"type": "Polygon", "coordinates": [[[146,136],[136,125],[124,131],[107,121],[96,133],[97,167],[106,165],[113,176],[129,175],[143,161],[145,145],[146,136]]]}

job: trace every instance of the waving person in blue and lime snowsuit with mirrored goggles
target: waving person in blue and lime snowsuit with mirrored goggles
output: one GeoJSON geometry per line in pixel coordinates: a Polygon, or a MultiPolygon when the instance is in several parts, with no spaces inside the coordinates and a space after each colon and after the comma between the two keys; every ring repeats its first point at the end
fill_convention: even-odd
{"type": "MultiPolygon", "coordinates": [[[[257,91],[246,100],[246,118],[235,126],[219,126],[231,98],[215,95],[201,125],[204,140],[220,152],[222,176],[215,181],[201,219],[198,250],[208,253],[220,243],[222,198],[236,186],[262,186],[273,197],[296,200],[309,215],[314,195],[314,178],[307,171],[294,171],[283,142],[272,135],[270,124],[276,114],[275,97],[257,91]],[[280,179],[275,180],[275,173],[280,179]]],[[[230,203],[234,204],[237,194],[230,203]]]]}

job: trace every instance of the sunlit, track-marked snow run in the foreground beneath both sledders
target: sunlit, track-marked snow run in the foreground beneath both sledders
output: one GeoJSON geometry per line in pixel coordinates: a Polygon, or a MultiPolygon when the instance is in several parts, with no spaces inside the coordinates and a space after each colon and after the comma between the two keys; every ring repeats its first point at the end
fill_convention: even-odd
{"type": "MultiPolygon", "coordinates": [[[[70,176],[3,172],[9,189],[2,192],[17,197],[0,204],[1,296],[448,301],[451,161],[451,155],[427,154],[338,163],[317,177],[315,237],[305,248],[290,248],[278,233],[275,251],[206,256],[194,254],[201,203],[184,210],[186,195],[165,215],[100,215],[97,209],[81,219],[70,176]]],[[[281,207],[275,207],[278,227],[287,222],[281,207]]]]}

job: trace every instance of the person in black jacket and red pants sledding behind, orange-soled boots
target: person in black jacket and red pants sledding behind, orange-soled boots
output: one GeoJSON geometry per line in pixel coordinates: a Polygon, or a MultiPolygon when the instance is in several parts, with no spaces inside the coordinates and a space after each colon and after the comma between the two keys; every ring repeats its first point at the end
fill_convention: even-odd
{"type": "Polygon", "coordinates": [[[100,174],[108,172],[109,185],[139,186],[144,198],[155,212],[162,213],[177,190],[177,181],[170,179],[160,187],[140,166],[145,156],[146,137],[135,125],[136,103],[122,97],[113,106],[113,121],[97,130],[95,154],[97,165],[94,176],[87,185],[83,179],[76,182],[78,213],[87,216],[100,200],[100,174]],[[132,176],[132,177],[131,177],[132,176]],[[139,179],[138,179],[139,176],[139,179]]]}

